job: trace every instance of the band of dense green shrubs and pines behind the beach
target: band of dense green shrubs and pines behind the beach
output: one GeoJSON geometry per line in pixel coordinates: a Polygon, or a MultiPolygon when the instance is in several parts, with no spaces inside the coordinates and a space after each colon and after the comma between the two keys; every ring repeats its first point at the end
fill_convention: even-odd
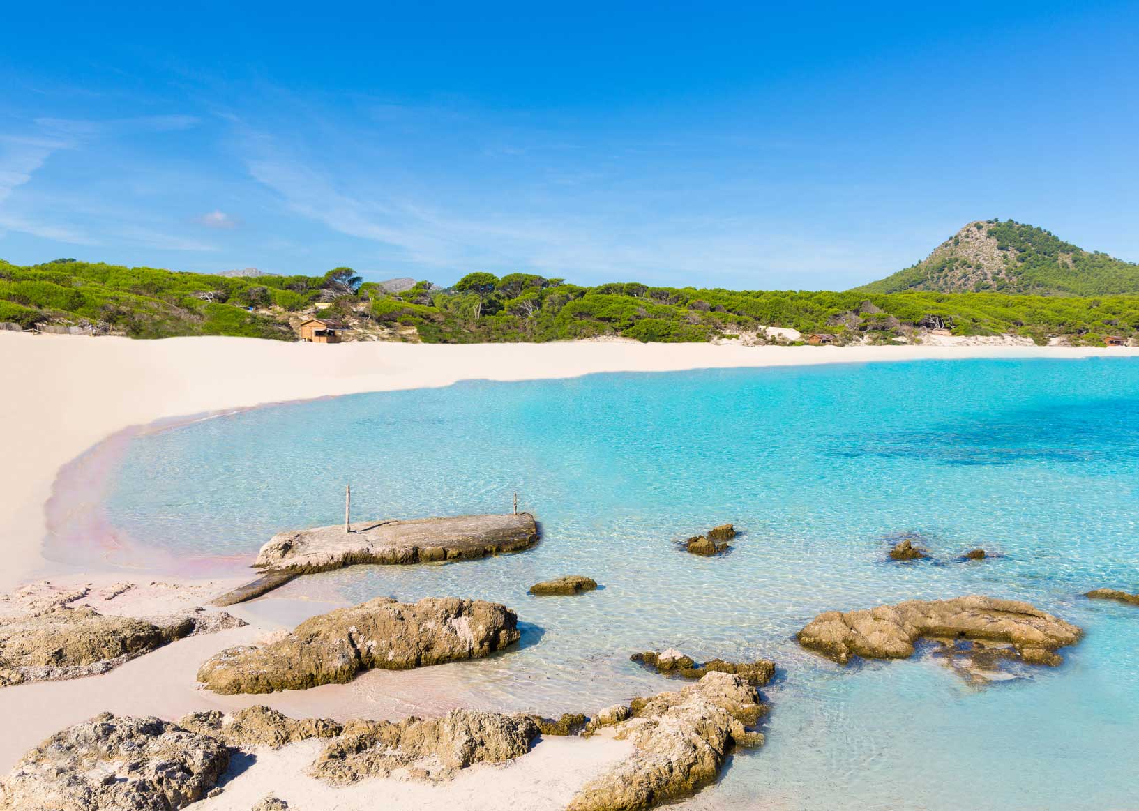
{"type": "MultiPolygon", "coordinates": [[[[90,323],[140,338],[240,335],[292,341],[302,313],[347,322],[355,335],[432,343],[546,342],[622,335],[700,342],[730,335],[768,339],[764,326],[852,339],[1017,334],[1100,343],[1139,330],[1139,296],[1058,297],[999,293],[810,293],[697,289],[613,282],[596,287],[532,273],[470,273],[441,289],[420,281],[399,294],[347,268],[323,276],[223,278],[151,268],[58,260],[0,262],[0,321],[90,323]],[[251,310],[252,308],[252,310],[251,310]],[[413,329],[412,329],[413,328],[413,329]]],[[[775,338],[771,338],[775,339],[775,338]]]]}

